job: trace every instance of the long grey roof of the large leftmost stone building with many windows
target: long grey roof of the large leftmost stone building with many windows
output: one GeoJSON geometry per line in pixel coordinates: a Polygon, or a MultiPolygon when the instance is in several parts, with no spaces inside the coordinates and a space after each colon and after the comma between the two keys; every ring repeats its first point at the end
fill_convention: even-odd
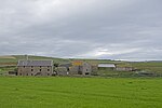
{"type": "Polygon", "coordinates": [[[53,66],[52,60],[18,60],[17,66],[53,66]]]}

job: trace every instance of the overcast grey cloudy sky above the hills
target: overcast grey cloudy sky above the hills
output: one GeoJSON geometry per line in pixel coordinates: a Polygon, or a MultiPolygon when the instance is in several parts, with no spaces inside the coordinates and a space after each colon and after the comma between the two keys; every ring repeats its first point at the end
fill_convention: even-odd
{"type": "Polygon", "coordinates": [[[0,0],[0,55],[162,59],[162,0],[0,0]]]}

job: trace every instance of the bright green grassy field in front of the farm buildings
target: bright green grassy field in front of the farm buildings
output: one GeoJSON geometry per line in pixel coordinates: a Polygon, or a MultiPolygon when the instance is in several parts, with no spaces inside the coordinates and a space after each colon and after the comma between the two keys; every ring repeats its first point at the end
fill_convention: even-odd
{"type": "Polygon", "coordinates": [[[0,108],[161,108],[162,79],[0,77],[0,108]]]}

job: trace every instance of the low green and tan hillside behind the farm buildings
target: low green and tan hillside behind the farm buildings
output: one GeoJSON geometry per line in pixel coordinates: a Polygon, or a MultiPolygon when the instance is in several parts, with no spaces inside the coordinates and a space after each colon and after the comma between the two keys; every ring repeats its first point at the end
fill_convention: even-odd
{"type": "MultiPolygon", "coordinates": [[[[26,59],[26,55],[8,55],[8,56],[0,56],[0,67],[15,67],[19,59],[26,59]]],[[[92,65],[96,65],[99,63],[107,63],[107,64],[116,64],[119,67],[134,67],[137,69],[151,71],[151,72],[159,72],[162,73],[162,62],[161,60],[153,60],[153,62],[122,62],[122,60],[110,60],[110,59],[87,59],[87,58],[57,58],[57,57],[46,57],[46,56],[35,56],[28,55],[28,59],[51,59],[57,64],[69,63],[72,60],[84,60],[89,62],[92,65]]]]}

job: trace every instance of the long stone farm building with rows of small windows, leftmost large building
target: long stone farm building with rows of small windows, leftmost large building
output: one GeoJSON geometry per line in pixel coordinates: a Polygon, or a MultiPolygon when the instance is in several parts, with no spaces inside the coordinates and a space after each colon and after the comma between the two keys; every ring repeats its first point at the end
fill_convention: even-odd
{"type": "Polygon", "coordinates": [[[53,60],[19,60],[17,76],[52,76],[53,60]]]}

